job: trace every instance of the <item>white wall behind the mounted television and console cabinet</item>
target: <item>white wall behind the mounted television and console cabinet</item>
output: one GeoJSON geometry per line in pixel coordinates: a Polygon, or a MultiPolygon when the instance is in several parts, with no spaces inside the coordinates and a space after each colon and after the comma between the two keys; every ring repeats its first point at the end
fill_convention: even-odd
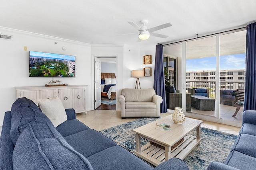
{"type": "MultiPolygon", "coordinates": [[[[91,47],[86,43],[68,41],[56,37],[48,37],[0,27],[0,34],[12,35],[12,40],[0,39],[1,83],[0,83],[0,126],[4,113],[11,110],[16,100],[17,86],[44,86],[52,78],[29,77],[29,51],[41,51],[76,56],[76,70],[74,78],[58,78],[65,84],[86,84],[86,92],[91,92],[91,47]],[[55,45],[54,42],[57,44],[55,45]],[[28,47],[24,51],[23,47],[28,47]],[[62,46],[66,50],[62,50],[62,46]]],[[[91,95],[86,96],[86,106],[90,106],[91,95]]],[[[91,109],[88,107],[87,109],[91,109]]]]}

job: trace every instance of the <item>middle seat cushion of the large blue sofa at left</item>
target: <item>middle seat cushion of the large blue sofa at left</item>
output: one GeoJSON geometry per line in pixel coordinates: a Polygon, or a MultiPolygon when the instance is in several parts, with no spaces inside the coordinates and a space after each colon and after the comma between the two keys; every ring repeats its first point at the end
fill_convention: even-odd
{"type": "Polygon", "coordinates": [[[94,129],[89,129],[64,137],[67,143],[85,157],[101,150],[116,146],[116,143],[94,129]],[[76,139],[76,140],[74,140],[76,139]],[[97,142],[95,142],[95,140],[97,142]]]}

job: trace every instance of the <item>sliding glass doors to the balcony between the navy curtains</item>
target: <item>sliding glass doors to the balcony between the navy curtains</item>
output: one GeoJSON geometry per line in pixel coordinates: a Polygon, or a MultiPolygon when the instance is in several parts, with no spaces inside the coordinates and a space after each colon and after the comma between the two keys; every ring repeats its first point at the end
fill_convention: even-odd
{"type": "Polygon", "coordinates": [[[177,57],[176,89],[182,93],[183,107],[191,102],[186,116],[240,125],[243,108],[234,116],[233,91],[244,90],[245,43],[246,30],[240,30],[164,46],[165,57],[177,57]]]}

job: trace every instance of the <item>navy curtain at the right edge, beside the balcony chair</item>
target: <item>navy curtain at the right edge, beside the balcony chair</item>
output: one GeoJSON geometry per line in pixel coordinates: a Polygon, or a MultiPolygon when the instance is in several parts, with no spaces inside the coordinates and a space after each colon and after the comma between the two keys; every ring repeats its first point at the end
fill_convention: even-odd
{"type": "Polygon", "coordinates": [[[256,110],[256,22],[247,26],[244,110],[256,110]]]}

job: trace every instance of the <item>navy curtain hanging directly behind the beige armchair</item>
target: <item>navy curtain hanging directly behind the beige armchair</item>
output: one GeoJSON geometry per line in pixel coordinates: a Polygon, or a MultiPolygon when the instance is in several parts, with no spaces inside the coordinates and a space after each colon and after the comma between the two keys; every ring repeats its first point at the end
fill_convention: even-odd
{"type": "Polygon", "coordinates": [[[155,72],[154,72],[154,89],[158,96],[163,98],[161,103],[161,113],[167,112],[166,96],[165,96],[165,83],[164,83],[164,53],[163,45],[156,45],[156,59],[155,59],[155,72]]]}

